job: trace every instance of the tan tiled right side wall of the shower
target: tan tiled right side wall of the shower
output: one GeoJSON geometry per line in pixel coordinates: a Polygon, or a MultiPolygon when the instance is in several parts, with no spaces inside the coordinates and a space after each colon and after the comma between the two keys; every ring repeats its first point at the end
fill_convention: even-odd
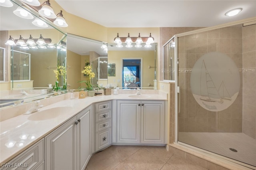
{"type": "Polygon", "coordinates": [[[243,27],[243,132],[256,138],[256,25],[243,27]]]}

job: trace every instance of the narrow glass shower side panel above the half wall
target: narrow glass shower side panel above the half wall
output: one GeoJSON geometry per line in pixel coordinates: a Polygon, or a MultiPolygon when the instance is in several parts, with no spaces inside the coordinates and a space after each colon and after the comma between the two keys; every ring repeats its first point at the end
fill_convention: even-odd
{"type": "Polygon", "coordinates": [[[164,45],[164,80],[175,80],[174,77],[174,52],[175,50],[175,42],[174,37],[170,39],[165,45],[164,45]]]}

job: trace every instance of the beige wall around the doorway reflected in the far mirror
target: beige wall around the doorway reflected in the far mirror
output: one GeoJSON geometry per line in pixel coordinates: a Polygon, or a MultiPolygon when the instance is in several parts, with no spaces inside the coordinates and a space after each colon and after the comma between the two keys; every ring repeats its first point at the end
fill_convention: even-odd
{"type": "Polygon", "coordinates": [[[142,87],[148,87],[148,83],[154,84],[154,51],[108,51],[108,63],[116,64],[116,76],[109,76],[108,83],[118,83],[122,87],[122,68],[123,58],[142,58],[142,87]]]}

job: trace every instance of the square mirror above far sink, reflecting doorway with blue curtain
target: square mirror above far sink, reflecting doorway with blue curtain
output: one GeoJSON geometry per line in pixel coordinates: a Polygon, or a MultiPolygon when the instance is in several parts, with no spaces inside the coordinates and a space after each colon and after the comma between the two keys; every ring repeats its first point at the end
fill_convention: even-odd
{"type": "Polygon", "coordinates": [[[108,65],[114,65],[116,72],[108,74],[108,83],[112,87],[140,87],[142,89],[154,89],[156,79],[156,54],[157,43],[151,47],[127,48],[116,47],[116,44],[108,44],[108,65]]]}

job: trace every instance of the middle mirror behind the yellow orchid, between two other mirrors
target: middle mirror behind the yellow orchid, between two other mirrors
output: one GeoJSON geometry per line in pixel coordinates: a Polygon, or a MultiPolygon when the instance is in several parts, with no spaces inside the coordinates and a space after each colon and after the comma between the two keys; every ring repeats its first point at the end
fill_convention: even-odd
{"type": "Polygon", "coordinates": [[[92,85],[105,87],[108,84],[107,63],[108,50],[104,42],[89,38],[67,34],[67,88],[78,89],[85,84],[78,81],[87,81],[82,73],[85,65],[92,66],[95,77],[92,85]]]}

